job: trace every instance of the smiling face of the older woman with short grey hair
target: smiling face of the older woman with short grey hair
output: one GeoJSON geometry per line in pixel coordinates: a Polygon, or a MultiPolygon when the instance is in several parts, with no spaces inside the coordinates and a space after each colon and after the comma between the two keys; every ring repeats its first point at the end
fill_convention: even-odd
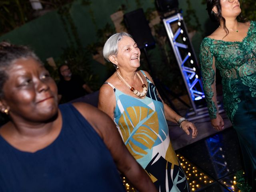
{"type": "Polygon", "coordinates": [[[118,53],[110,56],[110,61],[118,64],[119,68],[138,68],[140,66],[140,49],[134,40],[128,36],[123,36],[118,42],[118,53]]]}

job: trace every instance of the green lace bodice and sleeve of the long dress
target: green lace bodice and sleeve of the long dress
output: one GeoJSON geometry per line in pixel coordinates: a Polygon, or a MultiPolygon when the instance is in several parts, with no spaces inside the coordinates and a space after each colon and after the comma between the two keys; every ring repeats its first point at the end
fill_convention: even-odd
{"type": "Polygon", "coordinates": [[[233,121],[244,86],[256,97],[256,22],[251,21],[242,42],[204,38],[200,46],[200,65],[204,94],[210,118],[216,118],[215,72],[222,76],[224,108],[233,121]],[[215,58],[215,63],[213,62],[215,58]]]}

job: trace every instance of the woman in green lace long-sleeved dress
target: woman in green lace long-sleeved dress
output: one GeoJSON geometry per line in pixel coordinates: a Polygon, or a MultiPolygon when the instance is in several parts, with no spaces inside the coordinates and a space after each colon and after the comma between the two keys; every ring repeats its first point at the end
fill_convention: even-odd
{"type": "Polygon", "coordinates": [[[238,22],[239,0],[207,0],[210,18],[220,26],[204,38],[200,64],[212,126],[224,122],[216,104],[215,72],[220,70],[224,108],[235,128],[248,184],[256,191],[256,22],[238,22]]]}

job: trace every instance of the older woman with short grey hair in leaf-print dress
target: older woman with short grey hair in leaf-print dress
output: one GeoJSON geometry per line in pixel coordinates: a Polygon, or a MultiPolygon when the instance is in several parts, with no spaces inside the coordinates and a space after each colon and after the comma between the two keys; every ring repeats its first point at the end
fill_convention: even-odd
{"type": "Polygon", "coordinates": [[[159,191],[189,192],[166,120],[178,123],[188,135],[191,129],[193,138],[196,127],[165,104],[150,75],[138,70],[140,49],[129,34],[112,35],[103,54],[116,72],[100,88],[99,109],[114,120],[126,147],[159,191]]]}

